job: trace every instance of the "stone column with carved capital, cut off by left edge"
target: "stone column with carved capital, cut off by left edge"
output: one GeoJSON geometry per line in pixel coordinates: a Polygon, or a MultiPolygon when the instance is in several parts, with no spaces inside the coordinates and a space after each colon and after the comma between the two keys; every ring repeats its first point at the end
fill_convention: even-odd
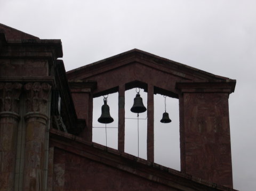
{"type": "Polygon", "coordinates": [[[19,96],[22,85],[0,83],[0,190],[14,190],[19,96]]]}

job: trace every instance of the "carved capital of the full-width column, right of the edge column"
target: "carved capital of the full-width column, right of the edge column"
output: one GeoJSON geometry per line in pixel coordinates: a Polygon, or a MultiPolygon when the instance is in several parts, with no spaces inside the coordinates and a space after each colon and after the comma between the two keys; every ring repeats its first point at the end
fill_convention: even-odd
{"type": "Polygon", "coordinates": [[[26,92],[26,109],[28,112],[39,112],[46,114],[47,103],[51,85],[47,83],[28,83],[24,86],[26,92]]]}

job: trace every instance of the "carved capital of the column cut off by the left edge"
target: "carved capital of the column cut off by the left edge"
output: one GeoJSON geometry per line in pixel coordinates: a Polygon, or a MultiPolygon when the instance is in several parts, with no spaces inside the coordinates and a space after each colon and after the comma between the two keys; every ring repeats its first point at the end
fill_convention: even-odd
{"type": "Polygon", "coordinates": [[[0,112],[19,113],[22,84],[0,83],[0,112]]]}

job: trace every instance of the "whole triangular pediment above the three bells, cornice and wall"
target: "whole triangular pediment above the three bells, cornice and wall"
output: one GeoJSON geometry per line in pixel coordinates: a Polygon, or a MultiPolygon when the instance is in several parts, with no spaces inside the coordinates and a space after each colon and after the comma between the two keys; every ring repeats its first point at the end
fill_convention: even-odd
{"type": "MultiPolygon", "coordinates": [[[[116,92],[119,85],[135,81],[134,86],[143,87],[143,83],[167,90],[171,97],[178,97],[175,88],[177,82],[226,81],[228,78],[198,70],[139,49],[132,49],[107,59],[94,62],[67,72],[69,80],[96,81],[98,93],[116,92]],[[106,92],[112,89],[110,92],[106,92]]],[[[159,93],[159,92],[158,92],[159,93]]],[[[162,94],[162,93],[161,93],[162,94]]],[[[168,94],[167,94],[168,95],[168,94]]]]}

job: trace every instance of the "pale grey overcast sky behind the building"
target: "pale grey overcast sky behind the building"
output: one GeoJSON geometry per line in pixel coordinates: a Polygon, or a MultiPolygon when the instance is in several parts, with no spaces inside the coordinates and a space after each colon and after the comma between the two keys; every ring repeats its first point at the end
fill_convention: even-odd
{"type": "MultiPolygon", "coordinates": [[[[229,98],[234,188],[254,190],[256,187],[255,9],[254,0],[0,0],[0,23],[41,39],[61,39],[67,71],[138,48],[194,68],[236,79],[235,93],[229,98]]],[[[133,99],[134,92],[130,94],[133,99]]],[[[144,96],[146,102],[147,95],[144,96]]],[[[115,95],[109,95],[109,103],[113,99],[111,97],[115,95]]],[[[102,99],[99,99],[102,102],[102,99]]],[[[156,99],[161,110],[164,99],[159,95],[156,95],[156,99]]],[[[99,101],[95,99],[96,102],[99,101]]],[[[177,142],[178,123],[174,121],[178,118],[175,116],[178,105],[171,98],[167,99],[167,103],[169,105],[167,110],[172,113],[174,119],[172,126],[169,127],[176,129],[170,132],[175,136],[170,135],[169,138],[177,142]]],[[[113,112],[114,105],[113,103],[111,107],[113,112]]],[[[141,126],[142,124],[143,120],[141,126]]],[[[96,123],[94,125],[97,126],[96,123]]],[[[113,123],[113,126],[115,125],[117,124],[113,123]]],[[[159,136],[170,129],[163,128],[163,131],[157,131],[159,136]]],[[[94,133],[100,134],[100,131],[102,129],[95,128],[94,133]]],[[[143,132],[141,129],[142,142],[145,140],[143,132]]],[[[108,129],[110,139],[111,136],[115,137],[115,133],[114,128],[108,129]]],[[[129,135],[128,131],[127,135],[129,135]]],[[[110,142],[109,144],[115,147],[115,144],[111,145],[110,142]]],[[[161,143],[158,143],[157,148],[161,150],[159,145],[161,143]]],[[[143,157],[145,156],[143,143],[141,146],[140,157],[143,157]]],[[[137,143],[134,147],[137,147],[137,143]]],[[[126,148],[126,151],[137,155],[138,150],[129,149],[126,148]]],[[[156,161],[179,170],[177,167],[179,152],[176,147],[173,151],[175,156],[166,156],[173,158],[171,164],[161,161],[161,154],[158,154],[156,161]]]]}

